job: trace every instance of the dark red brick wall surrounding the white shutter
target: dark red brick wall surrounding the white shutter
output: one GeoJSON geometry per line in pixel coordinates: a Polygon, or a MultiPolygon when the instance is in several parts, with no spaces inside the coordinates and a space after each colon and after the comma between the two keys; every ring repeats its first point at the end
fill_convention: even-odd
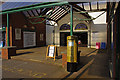
{"type": "MultiPolygon", "coordinates": [[[[18,48],[23,48],[23,32],[24,31],[35,31],[36,32],[36,46],[44,46],[46,45],[46,26],[45,23],[41,24],[31,24],[28,20],[26,20],[26,17],[21,13],[12,13],[9,15],[10,19],[10,44],[12,46],[16,46],[18,48]],[[24,25],[27,25],[27,28],[24,27],[24,25]],[[35,29],[32,28],[32,26],[35,27],[35,29]],[[15,40],[15,28],[21,28],[21,40],[15,40]],[[40,41],[40,33],[44,34],[44,40],[40,41]]],[[[42,21],[41,19],[38,19],[38,21],[42,21]]],[[[6,15],[3,15],[3,23],[6,25],[6,15]]]]}

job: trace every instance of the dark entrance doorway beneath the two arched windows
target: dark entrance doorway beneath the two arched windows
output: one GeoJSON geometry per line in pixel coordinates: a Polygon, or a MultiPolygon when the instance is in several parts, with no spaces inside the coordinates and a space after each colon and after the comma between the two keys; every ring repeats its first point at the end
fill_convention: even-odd
{"type": "MultiPolygon", "coordinates": [[[[81,44],[79,46],[87,47],[88,44],[87,32],[74,32],[73,35],[77,36],[78,40],[81,41],[81,44]]],[[[67,36],[70,36],[70,32],[60,33],[60,46],[67,46],[67,36]]]]}

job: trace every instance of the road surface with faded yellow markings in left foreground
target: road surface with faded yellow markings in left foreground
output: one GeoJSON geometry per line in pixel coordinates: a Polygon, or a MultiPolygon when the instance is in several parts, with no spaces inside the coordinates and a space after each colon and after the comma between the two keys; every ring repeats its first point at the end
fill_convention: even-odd
{"type": "Polygon", "coordinates": [[[27,80],[29,78],[60,78],[62,73],[67,74],[60,66],[33,61],[3,60],[2,65],[3,78],[18,78],[20,80],[24,80],[24,78],[28,78],[27,80]]]}

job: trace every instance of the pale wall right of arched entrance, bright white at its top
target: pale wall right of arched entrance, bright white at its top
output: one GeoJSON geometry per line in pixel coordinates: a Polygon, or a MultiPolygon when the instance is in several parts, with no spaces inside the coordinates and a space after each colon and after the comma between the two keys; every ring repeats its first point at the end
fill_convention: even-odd
{"type": "MultiPolygon", "coordinates": [[[[97,17],[102,12],[90,13],[92,17],[97,17]]],[[[96,42],[107,43],[106,13],[91,22],[91,47],[96,47],[96,42]]]]}

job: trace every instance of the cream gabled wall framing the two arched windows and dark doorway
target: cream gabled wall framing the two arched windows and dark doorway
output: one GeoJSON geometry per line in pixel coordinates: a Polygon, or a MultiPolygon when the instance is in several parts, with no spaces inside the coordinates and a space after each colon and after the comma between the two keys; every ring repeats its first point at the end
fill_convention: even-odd
{"type": "MultiPolygon", "coordinates": [[[[85,16],[79,14],[79,13],[74,13],[73,12],[73,32],[88,32],[88,47],[90,46],[90,24],[85,22],[85,21],[79,21],[78,19],[87,19],[85,16]],[[78,23],[84,23],[87,25],[88,27],[88,30],[74,30],[75,26],[78,24],[78,23]]],[[[61,27],[61,25],[63,24],[70,24],[70,14],[67,14],[66,16],[64,16],[61,20],[58,21],[58,28],[61,27]]],[[[58,42],[57,44],[60,45],[60,33],[59,32],[70,32],[70,30],[59,30],[59,29],[56,29],[56,32],[57,32],[57,38],[56,38],[56,42],[58,42]]]]}

